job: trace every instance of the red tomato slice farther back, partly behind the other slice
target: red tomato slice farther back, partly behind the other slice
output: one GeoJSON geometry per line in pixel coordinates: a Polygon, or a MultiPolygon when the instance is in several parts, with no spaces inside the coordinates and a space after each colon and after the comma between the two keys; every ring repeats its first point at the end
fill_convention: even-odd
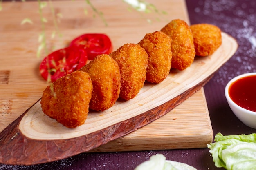
{"type": "Polygon", "coordinates": [[[106,34],[90,33],[83,34],[72,40],[70,46],[86,49],[88,59],[93,60],[100,54],[109,54],[113,50],[110,38],[106,34]]]}

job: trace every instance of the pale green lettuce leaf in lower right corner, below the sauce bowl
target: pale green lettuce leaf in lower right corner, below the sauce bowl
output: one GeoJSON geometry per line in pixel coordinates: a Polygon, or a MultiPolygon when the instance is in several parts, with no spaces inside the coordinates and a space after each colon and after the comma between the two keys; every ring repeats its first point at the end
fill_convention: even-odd
{"type": "Polygon", "coordinates": [[[214,143],[208,144],[216,167],[227,170],[256,170],[256,134],[216,134],[214,143]]]}

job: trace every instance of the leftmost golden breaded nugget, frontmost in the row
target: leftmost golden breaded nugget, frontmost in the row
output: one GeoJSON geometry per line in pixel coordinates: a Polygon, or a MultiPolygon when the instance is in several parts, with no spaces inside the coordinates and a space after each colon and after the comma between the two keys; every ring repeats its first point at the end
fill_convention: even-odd
{"type": "Polygon", "coordinates": [[[41,107],[49,117],[68,128],[84,124],[92,97],[92,80],[88,73],[75,71],[47,86],[41,107]]]}

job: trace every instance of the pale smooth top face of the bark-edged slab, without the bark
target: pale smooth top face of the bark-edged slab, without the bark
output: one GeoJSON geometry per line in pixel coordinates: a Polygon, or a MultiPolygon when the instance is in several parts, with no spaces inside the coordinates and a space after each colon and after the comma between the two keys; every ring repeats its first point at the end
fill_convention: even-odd
{"type": "MultiPolygon", "coordinates": [[[[59,140],[80,137],[115,126],[117,123],[158,108],[158,106],[180,97],[183,93],[197,91],[199,89],[197,86],[203,86],[209,77],[232,56],[236,50],[235,45],[236,42],[229,35],[222,33],[222,45],[213,55],[196,57],[193,64],[184,71],[171,69],[166,79],[159,84],[145,82],[144,87],[133,99],[117,100],[114,106],[105,111],[90,111],[85,124],[77,128],[66,128],[56,120],[49,118],[43,113],[40,103],[37,102],[22,118],[19,129],[23,135],[31,139],[59,140]],[[222,60],[218,60],[219,58],[222,60]]],[[[179,103],[172,105],[177,106],[184,101],[184,98],[191,95],[184,94],[183,96],[180,97],[179,103]]],[[[173,108],[167,108],[167,112],[173,108]]],[[[164,115],[166,110],[160,110],[160,112],[164,115]]],[[[129,127],[127,128],[129,129],[129,127]]]]}

